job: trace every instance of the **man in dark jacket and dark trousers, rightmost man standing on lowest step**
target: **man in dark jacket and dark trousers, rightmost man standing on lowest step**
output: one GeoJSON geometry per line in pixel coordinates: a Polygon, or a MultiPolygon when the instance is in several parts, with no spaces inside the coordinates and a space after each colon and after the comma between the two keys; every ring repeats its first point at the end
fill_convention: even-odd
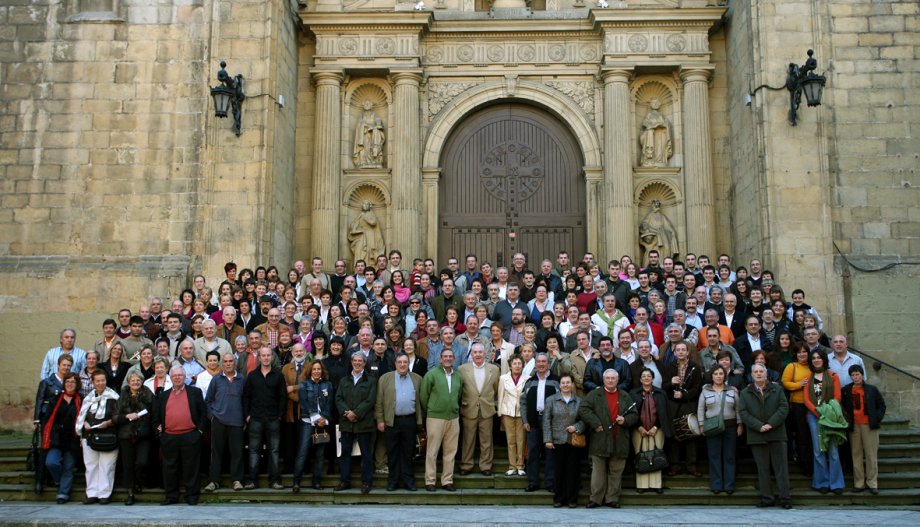
{"type": "Polygon", "coordinates": [[[778,384],[767,380],[767,368],[755,364],[751,368],[754,383],[741,390],[738,414],[747,428],[748,445],[757,464],[757,481],[760,489],[758,507],[772,507],[773,491],[770,487],[770,467],[776,474],[780,502],[784,509],[792,508],[789,496],[789,466],[786,462],[786,416],[789,403],[778,384]]]}

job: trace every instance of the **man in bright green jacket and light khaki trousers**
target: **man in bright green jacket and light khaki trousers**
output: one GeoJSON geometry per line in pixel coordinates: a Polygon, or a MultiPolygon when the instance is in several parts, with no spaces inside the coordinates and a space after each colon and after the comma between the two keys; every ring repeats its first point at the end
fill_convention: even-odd
{"type": "Polygon", "coordinates": [[[441,365],[425,374],[422,379],[422,408],[427,418],[428,445],[425,455],[425,490],[434,492],[437,478],[438,450],[441,456],[441,487],[454,489],[454,458],[460,438],[460,394],[463,393],[460,374],[454,369],[454,352],[445,348],[441,352],[441,365]]]}

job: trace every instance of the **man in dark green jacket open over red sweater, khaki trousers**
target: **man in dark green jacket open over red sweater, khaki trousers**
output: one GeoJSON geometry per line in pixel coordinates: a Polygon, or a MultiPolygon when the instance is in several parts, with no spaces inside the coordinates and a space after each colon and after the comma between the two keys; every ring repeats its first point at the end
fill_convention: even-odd
{"type": "Polygon", "coordinates": [[[591,497],[588,508],[606,505],[620,508],[620,488],[626,456],[629,455],[629,429],[639,420],[636,405],[624,390],[617,388],[620,374],[604,371],[604,389],[592,390],[578,408],[578,417],[591,431],[588,454],[591,456],[591,497]]]}

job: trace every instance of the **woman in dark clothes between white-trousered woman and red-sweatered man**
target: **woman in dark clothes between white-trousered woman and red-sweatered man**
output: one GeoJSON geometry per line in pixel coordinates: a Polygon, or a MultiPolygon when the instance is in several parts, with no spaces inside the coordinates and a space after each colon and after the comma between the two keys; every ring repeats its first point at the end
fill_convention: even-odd
{"type": "Polygon", "coordinates": [[[128,385],[118,399],[118,446],[121,455],[122,483],[128,489],[125,505],[134,505],[134,494],[140,492],[150,458],[150,439],[153,436],[150,412],[153,410],[153,393],[144,388],[144,376],[132,373],[128,385]]]}

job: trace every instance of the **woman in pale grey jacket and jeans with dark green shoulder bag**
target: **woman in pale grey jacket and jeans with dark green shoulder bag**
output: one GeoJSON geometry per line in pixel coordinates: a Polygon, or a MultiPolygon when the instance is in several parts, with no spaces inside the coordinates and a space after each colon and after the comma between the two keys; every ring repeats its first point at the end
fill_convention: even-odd
{"type": "Polygon", "coordinates": [[[703,386],[697,418],[706,436],[709,455],[709,490],[713,494],[735,492],[735,451],[744,425],[738,421],[738,389],[725,384],[725,370],[713,366],[709,384],[703,386]]]}

